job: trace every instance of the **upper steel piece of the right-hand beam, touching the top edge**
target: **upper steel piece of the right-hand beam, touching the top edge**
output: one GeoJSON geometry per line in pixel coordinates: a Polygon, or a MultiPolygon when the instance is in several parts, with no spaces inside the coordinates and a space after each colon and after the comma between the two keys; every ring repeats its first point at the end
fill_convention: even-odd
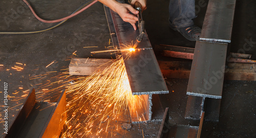
{"type": "Polygon", "coordinates": [[[236,0],[210,0],[199,40],[231,42],[236,0]]]}

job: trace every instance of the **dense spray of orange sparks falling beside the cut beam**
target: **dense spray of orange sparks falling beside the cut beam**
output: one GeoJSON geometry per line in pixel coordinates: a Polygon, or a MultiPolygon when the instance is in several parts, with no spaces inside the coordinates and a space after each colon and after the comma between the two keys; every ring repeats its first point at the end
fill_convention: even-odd
{"type": "Polygon", "coordinates": [[[118,118],[128,112],[129,107],[144,108],[143,98],[132,95],[122,58],[102,72],[69,85],[66,92],[73,96],[68,102],[67,111],[70,117],[66,125],[70,129],[61,137],[80,137],[81,134],[96,136],[111,131],[113,126],[118,126],[118,118]]]}

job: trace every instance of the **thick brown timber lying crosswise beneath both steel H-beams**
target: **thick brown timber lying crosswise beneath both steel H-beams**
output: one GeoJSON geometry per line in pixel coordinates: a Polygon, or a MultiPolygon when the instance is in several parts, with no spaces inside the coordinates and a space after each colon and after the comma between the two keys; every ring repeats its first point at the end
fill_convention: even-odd
{"type": "MultiPolygon", "coordinates": [[[[90,75],[103,70],[113,63],[113,59],[72,58],[69,69],[71,75],[90,75]]],[[[158,61],[161,72],[167,78],[189,78],[192,62],[158,61]]],[[[229,63],[224,79],[256,80],[256,64],[229,63]]]]}

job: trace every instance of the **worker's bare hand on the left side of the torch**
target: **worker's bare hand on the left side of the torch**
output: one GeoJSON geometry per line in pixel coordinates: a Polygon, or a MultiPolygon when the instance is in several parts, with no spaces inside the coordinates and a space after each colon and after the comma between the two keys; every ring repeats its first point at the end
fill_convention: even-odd
{"type": "Polygon", "coordinates": [[[139,11],[135,10],[129,4],[120,4],[120,6],[115,7],[114,11],[119,14],[123,21],[130,22],[133,25],[134,30],[137,30],[135,23],[138,21],[138,17],[136,15],[139,13],[139,11]],[[130,14],[130,12],[134,15],[130,14]]]}

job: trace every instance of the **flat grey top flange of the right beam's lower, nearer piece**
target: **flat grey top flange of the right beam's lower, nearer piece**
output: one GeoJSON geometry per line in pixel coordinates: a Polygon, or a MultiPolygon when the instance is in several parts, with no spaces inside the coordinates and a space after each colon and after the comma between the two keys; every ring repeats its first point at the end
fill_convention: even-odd
{"type": "Polygon", "coordinates": [[[197,41],[187,95],[221,98],[227,44],[197,41]]]}

